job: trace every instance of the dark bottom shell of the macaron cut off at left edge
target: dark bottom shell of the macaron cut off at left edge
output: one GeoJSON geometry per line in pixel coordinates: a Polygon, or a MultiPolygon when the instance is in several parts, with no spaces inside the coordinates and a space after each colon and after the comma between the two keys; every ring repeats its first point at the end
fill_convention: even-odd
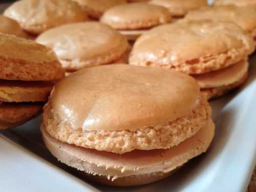
{"type": "Polygon", "coordinates": [[[0,130],[22,125],[39,115],[43,103],[6,103],[0,104],[0,130]]]}

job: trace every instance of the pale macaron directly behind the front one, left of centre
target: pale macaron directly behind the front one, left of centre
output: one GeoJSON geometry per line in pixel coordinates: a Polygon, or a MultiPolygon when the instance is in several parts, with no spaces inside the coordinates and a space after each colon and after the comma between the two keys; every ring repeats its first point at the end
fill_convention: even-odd
{"type": "Polygon", "coordinates": [[[124,56],[126,38],[99,22],[67,24],[50,29],[36,39],[50,46],[67,72],[105,65],[124,56]]]}

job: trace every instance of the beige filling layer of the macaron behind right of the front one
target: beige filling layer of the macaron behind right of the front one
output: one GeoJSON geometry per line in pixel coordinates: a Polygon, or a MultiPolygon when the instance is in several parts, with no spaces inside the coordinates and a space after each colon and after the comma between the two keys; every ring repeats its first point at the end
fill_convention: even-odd
{"type": "Polygon", "coordinates": [[[227,68],[210,73],[194,75],[201,89],[218,88],[228,86],[241,80],[247,74],[249,63],[247,59],[242,60],[227,68]]]}

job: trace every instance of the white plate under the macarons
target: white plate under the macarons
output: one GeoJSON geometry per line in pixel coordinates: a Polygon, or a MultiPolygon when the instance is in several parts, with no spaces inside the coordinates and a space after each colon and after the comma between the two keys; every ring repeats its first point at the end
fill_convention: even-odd
{"type": "Polygon", "coordinates": [[[154,184],[125,188],[79,180],[73,168],[58,163],[48,152],[37,118],[2,132],[27,150],[0,138],[0,191],[245,191],[256,163],[256,55],[253,57],[246,85],[211,102],[217,129],[208,152],[173,176],[154,184]]]}

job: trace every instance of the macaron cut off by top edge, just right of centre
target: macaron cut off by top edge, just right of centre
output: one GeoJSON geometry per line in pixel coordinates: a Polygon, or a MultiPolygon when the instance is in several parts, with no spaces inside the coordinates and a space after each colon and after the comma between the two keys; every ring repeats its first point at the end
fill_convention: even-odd
{"type": "Polygon", "coordinates": [[[167,8],[173,17],[183,17],[188,11],[207,6],[207,0],[151,0],[148,3],[167,8]]]}

